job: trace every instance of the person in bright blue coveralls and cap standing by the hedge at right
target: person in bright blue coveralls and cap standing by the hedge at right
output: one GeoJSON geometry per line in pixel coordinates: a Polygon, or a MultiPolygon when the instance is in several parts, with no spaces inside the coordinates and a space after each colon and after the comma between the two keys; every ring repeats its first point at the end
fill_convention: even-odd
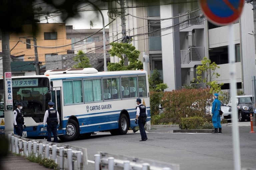
{"type": "Polygon", "coordinates": [[[215,93],[214,94],[214,101],[212,103],[212,123],[214,126],[214,132],[212,133],[222,133],[221,131],[221,124],[220,124],[220,113],[219,110],[221,109],[221,103],[218,99],[219,94],[215,93]],[[218,128],[219,128],[219,132],[218,132],[218,128]]]}

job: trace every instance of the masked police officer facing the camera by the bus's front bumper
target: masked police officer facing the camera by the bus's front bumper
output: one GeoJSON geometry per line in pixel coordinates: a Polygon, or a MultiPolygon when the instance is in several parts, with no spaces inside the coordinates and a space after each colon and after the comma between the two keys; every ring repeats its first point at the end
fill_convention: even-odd
{"type": "Polygon", "coordinates": [[[23,118],[23,112],[21,111],[22,109],[22,103],[19,102],[17,109],[15,109],[13,111],[14,114],[14,119],[13,119],[13,123],[14,123],[14,128],[16,130],[17,135],[22,136],[22,132],[23,132],[23,126],[24,128],[26,128],[25,122],[24,122],[24,118],[23,118]]]}

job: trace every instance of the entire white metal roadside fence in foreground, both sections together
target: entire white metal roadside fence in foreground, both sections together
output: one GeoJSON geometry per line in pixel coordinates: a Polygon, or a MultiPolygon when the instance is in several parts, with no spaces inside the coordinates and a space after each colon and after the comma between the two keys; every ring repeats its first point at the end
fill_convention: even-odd
{"type": "Polygon", "coordinates": [[[24,156],[33,154],[54,160],[60,170],[85,170],[88,162],[94,163],[95,170],[179,170],[179,164],[170,164],[154,160],[146,160],[135,157],[126,157],[103,153],[94,155],[95,161],[87,159],[85,148],[70,145],[46,142],[44,140],[31,140],[15,134],[8,135],[9,151],[24,156]]]}

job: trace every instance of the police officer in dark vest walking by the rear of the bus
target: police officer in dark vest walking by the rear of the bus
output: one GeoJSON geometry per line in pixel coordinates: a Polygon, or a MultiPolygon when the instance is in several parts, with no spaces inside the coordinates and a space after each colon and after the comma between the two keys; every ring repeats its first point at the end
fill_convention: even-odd
{"type": "Polygon", "coordinates": [[[147,109],[146,106],[141,104],[141,99],[138,98],[136,100],[137,102],[137,113],[136,113],[136,119],[135,119],[135,124],[139,124],[139,129],[140,129],[140,135],[141,135],[141,140],[140,141],[146,141],[148,139],[146,131],[144,129],[144,126],[146,124],[147,120],[147,109]],[[139,120],[138,120],[139,119],[139,120]]]}

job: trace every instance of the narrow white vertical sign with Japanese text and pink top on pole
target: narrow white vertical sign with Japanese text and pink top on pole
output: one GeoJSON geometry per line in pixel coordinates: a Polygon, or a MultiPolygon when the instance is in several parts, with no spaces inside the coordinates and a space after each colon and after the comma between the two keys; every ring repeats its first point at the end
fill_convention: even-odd
{"type": "Polygon", "coordinates": [[[5,72],[4,73],[4,81],[5,81],[5,106],[6,110],[13,110],[12,105],[12,73],[5,72]]]}

